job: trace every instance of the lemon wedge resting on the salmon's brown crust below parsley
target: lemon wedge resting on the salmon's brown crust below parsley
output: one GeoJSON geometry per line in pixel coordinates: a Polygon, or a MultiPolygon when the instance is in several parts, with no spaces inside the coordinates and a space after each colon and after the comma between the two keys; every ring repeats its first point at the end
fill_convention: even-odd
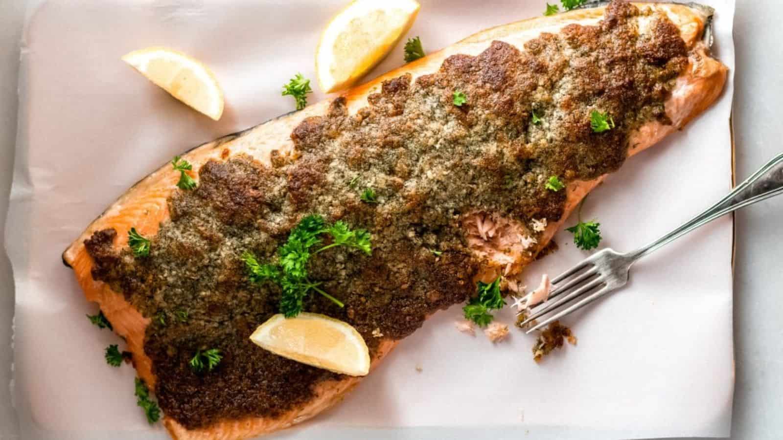
{"type": "Polygon", "coordinates": [[[364,376],[370,352],[362,335],[348,323],[316,313],[285,318],[278,313],[251,334],[258,346],[284,358],[335,373],[364,376]]]}

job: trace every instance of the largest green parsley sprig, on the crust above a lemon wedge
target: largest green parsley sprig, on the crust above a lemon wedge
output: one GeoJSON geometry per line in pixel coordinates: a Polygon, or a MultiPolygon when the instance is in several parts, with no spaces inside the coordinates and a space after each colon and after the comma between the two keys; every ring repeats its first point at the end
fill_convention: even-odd
{"type": "Polygon", "coordinates": [[[315,290],[324,298],[334,302],[339,307],[345,305],[321,289],[320,282],[309,280],[307,265],[313,255],[332,247],[345,246],[372,254],[370,233],[365,229],[350,229],[345,222],[337,221],[327,225],[320,215],[308,215],[291,231],[286,243],[277,251],[276,263],[261,264],[250,252],[242,254],[251,282],[271,282],[280,286],[283,295],[280,298],[280,312],[287,318],[293,318],[301,313],[305,296],[310,290],[315,290]],[[327,234],[332,242],[318,247],[323,243],[320,236],[327,234]]]}

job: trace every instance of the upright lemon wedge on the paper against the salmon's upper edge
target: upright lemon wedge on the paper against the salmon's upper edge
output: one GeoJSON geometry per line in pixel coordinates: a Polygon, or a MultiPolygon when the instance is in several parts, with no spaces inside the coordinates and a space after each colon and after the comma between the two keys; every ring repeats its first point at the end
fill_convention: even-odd
{"type": "Polygon", "coordinates": [[[337,92],[362,78],[410,29],[419,8],[415,0],[355,0],[337,13],[316,49],[321,89],[337,92]]]}

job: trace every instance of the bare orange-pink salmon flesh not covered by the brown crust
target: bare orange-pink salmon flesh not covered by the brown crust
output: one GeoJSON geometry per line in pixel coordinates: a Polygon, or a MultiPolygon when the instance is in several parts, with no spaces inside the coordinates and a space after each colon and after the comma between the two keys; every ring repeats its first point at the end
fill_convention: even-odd
{"type": "MultiPolygon", "coordinates": [[[[614,3],[613,3],[614,5],[614,3]]],[[[638,125],[628,134],[627,156],[633,156],[654,145],[669,133],[675,132],[706,110],[720,96],[727,78],[727,68],[709,56],[709,48],[702,42],[705,24],[710,11],[698,6],[673,4],[634,4],[645,14],[637,16],[636,27],[640,35],[652,32],[652,19],[668,20],[680,32],[680,38],[687,49],[687,66],[673,81],[673,88],[665,101],[665,119],[655,119],[638,125]]],[[[612,6],[610,6],[612,7],[612,6]]],[[[568,26],[595,27],[604,18],[604,7],[578,9],[555,16],[537,17],[474,34],[454,45],[432,53],[424,59],[407,64],[397,70],[376,78],[365,85],[359,85],[341,94],[345,99],[348,114],[356,114],[367,106],[370,96],[384,81],[410,75],[413,81],[424,75],[433,74],[442,64],[457,54],[478,56],[500,41],[519,51],[525,51],[525,43],[538,38],[543,33],[557,34],[568,26]]],[[[291,133],[305,118],[325,115],[333,103],[332,99],[316,103],[292,114],[260,124],[244,132],[228,135],[213,142],[190,150],[182,157],[193,164],[193,170],[200,169],[209,161],[225,161],[227,156],[247,154],[267,167],[272,166],[272,151],[281,156],[297,160],[291,133]],[[228,151],[228,154],[226,154],[228,151]]],[[[461,224],[468,246],[477,258],[484,261],[476,280],[494,280],[497,276],[513,279],[521,272],[536,254],[547,245],[554,233],[561,229],[568,213],[594,189],[605,175],[595,179],[574,180],[565,187],[565,204],[559,219],[533,218],[534,222],[523,225],[513,218],[500,213],[474,212],[464,215],[461,224]],[[536,236],[529,231],[536,230],[536,236]]],[[[198,176],[195,175],[198,180],[198,176]]],[[[114,331],[127,342],[127,350],[132,352],[133,364],[139,377],[155,389],[157,382],[153,374],[151,359],[144,350],[145,330],[150,318],[127,301],[123,294],[112,290],[107,283],[93,279],[92,269],[95,261],[85,249],[85,240],[104,229],[114,229],[116,239],[114,247],[128,246],[128,230],[137,229],[143,236],[155,236],[160,225],[171,217],[168,200],[177,191],[179,175],[171,172],[166,164],[153,171],[145,179],[124,193],[114,204],[106,208],[85,232],[63,253],[63,261],[77,276],[78,283],[85,292],[88,301],[98,303],[103,314],[109,319],[114,331]]],[[[373,353],[372,367],[378,365],[384,356],[399,341],[381,338],[377,350],[373,353]]],[[[274,374],[274,372],[269,372],[274,374]]],[[[327,380],[316,385],[312,398],[285,413],[273,417],[225,418],[207,426],[187,428],[177,420],[164,414],[164,426],[172,438],[179,440],[220,439],[233,440],[251,438],[277,431],[293,424],[301,423],[316,416],[323,410],[341,401],[345,394],[354,388],[361,378],[341,377],[327,380]]],[[[379,397],[379,399],[381,399],[379,397]]]]}

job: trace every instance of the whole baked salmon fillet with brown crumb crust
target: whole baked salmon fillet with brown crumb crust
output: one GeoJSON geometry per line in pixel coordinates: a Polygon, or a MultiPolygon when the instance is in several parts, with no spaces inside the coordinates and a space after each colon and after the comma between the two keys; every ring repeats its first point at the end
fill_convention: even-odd
{"type": "Polygon", "coordinates": [[[302,308],[354,326],[377,366],[478,281],[513,280],[608,173],[716,100],[727,68],[702,41],[709,20],[705,7],[615,0],[479,32],[189,150],[194,188],[165,164],[63,261],[126,341],[172,438],[298,424],[361,378],[249,341],[283,292],[250,279],[246,252],[272,261],[311,214],[366,229],[371,254],[334,247],[308,263],[345,307],[315,294],[302,308]],[[591,125],[596,114],[604,126],[591,125]],[[132,228],[148,254],[129,247],[132,228]],[[194,353],[212,348],[218,366],[193,371],[194,353]]]}

